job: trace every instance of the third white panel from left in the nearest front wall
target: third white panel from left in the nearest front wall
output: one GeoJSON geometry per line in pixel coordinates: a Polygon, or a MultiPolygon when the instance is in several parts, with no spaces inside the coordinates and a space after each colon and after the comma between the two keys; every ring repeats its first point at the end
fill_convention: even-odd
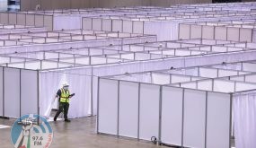
{"type": "Polygon", "coordinates": [[[140,85],[139,98],[139,139],[150,140],[158,137],[160,86],[140,85]]]}

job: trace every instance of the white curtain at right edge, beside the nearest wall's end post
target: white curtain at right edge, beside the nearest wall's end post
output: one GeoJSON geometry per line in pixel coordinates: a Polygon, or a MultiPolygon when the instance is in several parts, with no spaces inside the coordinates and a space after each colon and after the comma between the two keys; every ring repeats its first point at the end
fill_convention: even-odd
{"type": "Polygon", "coordinates": [[[256,91],[234,95],[234,137],[236,148],[256,147],[256,91]]]}

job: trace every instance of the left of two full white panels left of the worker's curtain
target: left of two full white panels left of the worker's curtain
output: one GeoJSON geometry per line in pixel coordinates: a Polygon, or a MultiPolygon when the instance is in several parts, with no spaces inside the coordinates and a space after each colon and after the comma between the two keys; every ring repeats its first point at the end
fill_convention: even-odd
{"type": "Polygon", "coordinates": [[[4,68],[4,116],[20,117],[20,70],[4,68]]]}

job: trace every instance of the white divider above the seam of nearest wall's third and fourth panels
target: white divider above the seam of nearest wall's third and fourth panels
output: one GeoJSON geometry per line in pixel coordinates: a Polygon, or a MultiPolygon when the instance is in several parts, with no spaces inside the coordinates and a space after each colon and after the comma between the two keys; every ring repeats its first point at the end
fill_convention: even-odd
{"type": "Polygon", "coordinates": [[[170,83],[170,74],[151,74],[152,83],[155,84],[168,84],[170,83]]]}

